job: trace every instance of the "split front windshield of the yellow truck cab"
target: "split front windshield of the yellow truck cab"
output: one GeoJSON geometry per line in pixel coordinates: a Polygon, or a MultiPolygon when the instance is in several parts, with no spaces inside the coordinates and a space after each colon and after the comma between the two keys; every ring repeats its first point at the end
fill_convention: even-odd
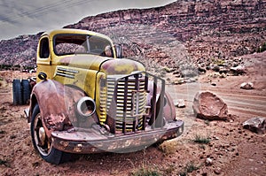
{"type": "Polygon", "coordinates": [[[54,37],[54,52],[58,56],[93,54],[113,57],[112,44],[108,40],[87,34],[57,34],[54,37]]]}

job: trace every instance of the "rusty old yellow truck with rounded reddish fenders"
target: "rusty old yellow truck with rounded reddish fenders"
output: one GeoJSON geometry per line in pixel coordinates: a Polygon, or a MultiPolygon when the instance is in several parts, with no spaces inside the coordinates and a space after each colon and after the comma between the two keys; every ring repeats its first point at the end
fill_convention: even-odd
{"type": "Polygon", "coordinates": [[[14,80],[13,98],[29,103],[32,142],[45,161],[132,152],[183,133],[165,80],[121,54],[121,44],[104,34],[59,29],[41,35],[36,79],[14,80]]]}

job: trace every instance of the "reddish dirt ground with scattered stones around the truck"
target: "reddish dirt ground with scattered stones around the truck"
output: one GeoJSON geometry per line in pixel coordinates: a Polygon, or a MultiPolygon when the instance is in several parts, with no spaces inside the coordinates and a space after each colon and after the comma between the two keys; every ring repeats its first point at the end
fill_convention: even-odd
{"type": "Polygon", "coordinates": [[[254,134],[242,127],[246,119],[266,117],[266,53],[245,58],[245,75],[210,79],[207,72],[197,83],[168,86],[175,101],[184,99],[186,103],[185,108],[176,108],[177,117],[185,122],[181,137],[134,153],[81,155],[61,165],[51,165],[38,156],[23,113],[27,105],[12,105],[12,79],[32,75],[2,71],[0,175],[141,175],[148,171],[159,175],[266,175],[266,134],[254,134]],[[253,82],[254,89],[240,89],[245,81],[253,82]],[[195,119],[192,99],[199,90],[221,97],[228,104],[230,118],[195,119]],[[193,142],[196,136],[210,142],[193,142]]]}

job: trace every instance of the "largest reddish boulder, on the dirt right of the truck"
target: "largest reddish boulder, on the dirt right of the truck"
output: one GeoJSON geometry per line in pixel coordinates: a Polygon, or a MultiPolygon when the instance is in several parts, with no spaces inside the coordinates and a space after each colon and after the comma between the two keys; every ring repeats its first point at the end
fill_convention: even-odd
{"type": "Polygon", "coordinates": [[[198,92],[194,97],[193,111],[197,118],[225,120],[228,116],[227,104],[211,92],[198,92]]]}

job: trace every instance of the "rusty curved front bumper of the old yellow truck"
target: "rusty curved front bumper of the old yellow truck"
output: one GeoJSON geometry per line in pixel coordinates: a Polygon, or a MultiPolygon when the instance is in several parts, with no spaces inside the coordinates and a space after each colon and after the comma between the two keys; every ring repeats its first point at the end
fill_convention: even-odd
{"type": "Polygon", "coordinates": [[[181,135],[184,122],[168,122],[163,128],[146,129],[134,134],[102,134],[98,129],[75,129],[70,132],[52,132],[54,148],[69,153],[132,152],[145,149],[155,142],[162,142],[181,135]]]}

